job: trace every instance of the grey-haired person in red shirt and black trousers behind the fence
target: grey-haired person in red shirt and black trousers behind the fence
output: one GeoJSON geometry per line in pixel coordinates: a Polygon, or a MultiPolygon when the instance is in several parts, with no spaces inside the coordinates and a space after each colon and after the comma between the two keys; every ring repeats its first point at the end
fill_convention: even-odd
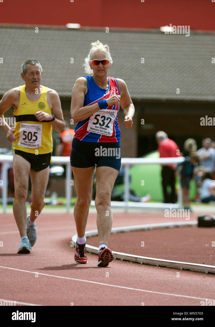
{"type": "MultiPolygon", "coordinates": [[[[158,151],[160,153],[160,158],[170,158],[170,157],[180,157],[180,151],[177,144],[170,140],[164,131],[159,131],[155,135],[156,142],[158,144],[158,151]]],[[[161,165],[162,171],[162,187],[164,195],[164,203],[175,203],[175,170],[176,163],[169,165],[161,165]],[[168,194],[167,187],[170,185],[171,194],[168,194]]]]}

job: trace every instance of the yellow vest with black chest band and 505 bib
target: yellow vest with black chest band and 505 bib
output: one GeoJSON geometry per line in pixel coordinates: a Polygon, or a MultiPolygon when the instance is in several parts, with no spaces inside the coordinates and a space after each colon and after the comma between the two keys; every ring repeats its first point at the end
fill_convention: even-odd
{"type": "Polygon", "coordinates": [[[25,85],[19,88],[20,103],[13,112],[16,119],[14,133],[16,141],[13,142],[13,149],[34,154],[52,152],[52,124],[45,120],[40,122],[34,116],[34,113],[38,111],[52,114],[46,99],[47,87],[42,86],[42,93],[38,101],[28,100],[25,85]]]}

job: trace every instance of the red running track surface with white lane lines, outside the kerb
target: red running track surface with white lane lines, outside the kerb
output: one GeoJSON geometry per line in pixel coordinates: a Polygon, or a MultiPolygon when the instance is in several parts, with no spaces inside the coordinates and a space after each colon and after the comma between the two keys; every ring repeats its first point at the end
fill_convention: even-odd
{"type": "MultiPolygon", "coordinates": [[[[196,214],[190,215],[190,220],[196,220],[196,214]]],[[[183,218],[164,218],[163,213],[115,213],[113,227],[176,220],[183,218]]],[[[213,275],[118,260],[101,268],[97,267],[98,256],[89,253],[87,265],[75,264],[75,249],[70,247],[76,233],[73,214],[42,213],[36,226],[32,252],[17,254],[20,236],[15,219],[12,214],[1,215],[0,299],[16,301],[16,305],[64,306],[200,306],[202,300],[215,299],[213,275]]],[[[89,214],[87,230],[94,229],[96,214],[89,214]]],[[[177,234],[178,229],[174,230],[177,234]]],[[[159,232],[155,233],[159,242],[159,232]]],[[[124,240],[128,242],[128,238],[124,240]]],[[[158,250],[156,257],[159,255],[158,250]]]]}

